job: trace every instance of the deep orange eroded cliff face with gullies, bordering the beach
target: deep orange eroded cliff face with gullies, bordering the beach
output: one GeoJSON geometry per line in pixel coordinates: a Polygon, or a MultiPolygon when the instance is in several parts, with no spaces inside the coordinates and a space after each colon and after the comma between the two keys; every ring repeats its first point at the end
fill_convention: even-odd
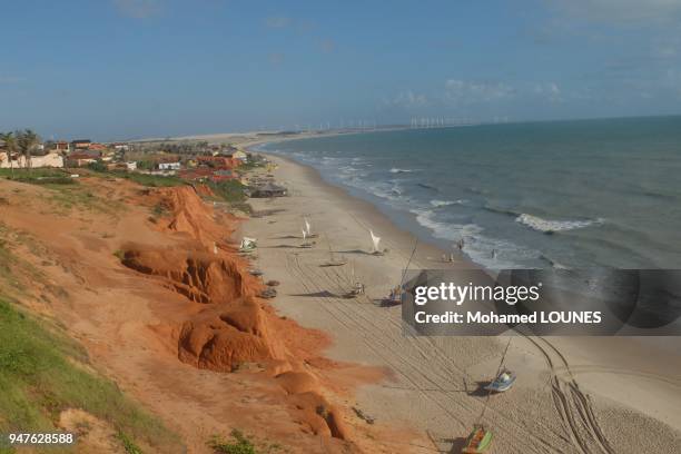
{"type": "Polygon", "coordinates": [[[223,215],[218,224],[213,208],[190,187],[160,189],[154,197],[167,213],[155,221],[157,228],[186,235],[189,241],[182,248],[127,243],[121,263],[201,305],[164,332],[177,345],[177,357],[219,373],[256,364],[280,387],[290,417],[304,432],[347,440],[340,409],[279,336],[280,318],[257,297],[263,284],[227,243],[225,233],[236,220],[223,215]]]}

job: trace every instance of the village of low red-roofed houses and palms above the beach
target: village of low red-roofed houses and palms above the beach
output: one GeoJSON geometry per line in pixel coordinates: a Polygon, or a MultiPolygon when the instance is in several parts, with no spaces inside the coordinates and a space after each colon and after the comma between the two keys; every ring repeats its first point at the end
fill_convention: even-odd
{"type": "MultiPolygon", "coordinates": [[[[62,169],[71,178],[79,169],[172,177],[214,188],[241,188],[250,197],[286,195],[272,178],[248,178],[246,170],[272,170],[260,155],[233,144],[208,141],[97,142],[90,139],[47,140],[31,130],[0,134],[0,169],[62,169]]],[[[43,177],[50,178],[50,177],[43,177]]]]}

